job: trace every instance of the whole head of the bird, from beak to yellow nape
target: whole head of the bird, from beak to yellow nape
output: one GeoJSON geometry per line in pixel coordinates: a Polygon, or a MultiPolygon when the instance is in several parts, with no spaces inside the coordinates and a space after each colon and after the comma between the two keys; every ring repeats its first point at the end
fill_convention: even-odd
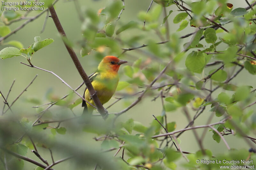
{"type": "Polygon", "coordinates": [[[102,59],[98,66],[98,70],[101,71],[113,71],[116,72],[118,71],[119,67],[121,64],[127,63],[127,61],[124,60],[119,60],[119,58],[115,56],[106,56],[102,59]]]}

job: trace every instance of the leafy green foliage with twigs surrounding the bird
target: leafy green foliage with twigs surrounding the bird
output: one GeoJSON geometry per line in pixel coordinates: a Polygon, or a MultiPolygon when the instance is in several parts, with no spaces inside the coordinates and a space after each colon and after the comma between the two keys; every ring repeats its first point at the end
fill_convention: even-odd
{"type": "MultiPolygon", "coordinates": [[[[256,74],[255,8],[249,6],[233,9],[233,4],[226,0],[188,3],[154,0],[148,11],[141,9],[137,18],[120,22],[124,9],[130,10],[125,6],[125,1],[110,1],[99,11],[90,7],[81,11],[81,7],[77,6],[82,21],[81,39],[73,45],[61,34],[67,48],[75,46],[74,48],[80,49],[80,55],[84,57],[80,59],[89,62],[90,56],[100,61],[106,55],[116,55],[129,61],[129,65],[119,70],[121,76],[116,89],[116,96],[119,97],[109,106],[113,108],[116,103],[120,104],[122,101],[120,105],[123,109],[109,114],[106,120],[92,115],[79,116],[81,110],[81,113],[77,112],[76,115],[75,109],[82,103],[83,96],[76,90],[81,86],[74,90],[52,71],[33,65],[32,56],[36,57],[37,51],[50,45],[54,42],[53,39],[41,40],[35,35],[34,42],[31,40],[28,48],[23,48],[22,40],[7,41],[13,34],[10,25],[27,14],[20,11],[1,12],[0,41],[3,46],[8,47],[1,49],[0,58],[9,60],[23,56],[28,61],[25,65],[55,75],[72,91],[63,97],[56,97],[53,92],[48,91],[45,95],[46,104],[41,101],[40,96],[36,99],[26,99],[26,102],[37,105],[37,119],[13,113],[12,105],[16,100],[11,103],[8,99],[9,93],[6,97],[0,91],[0,97],[4,100],[3,113],[0,116],[0,162],[3,163],[0,164],[0,169],[24,169],[28,161],[26,157],[31,156],[28,154],[30,150],[41,161],[30,161],[36,170],[47,169],[49,165],[55,168],[57,163],[68,159],[75,162],[77,169],[83,169],[85,165],[89,165],[91,169],[96,165],[95,169],[113,170],[253,166],[256,143],[255,138],[250,135],[255,133],[256,129],[256,116],[252,109],[256,103],[255,90],[246,82],[234,83],[232,80],[237,78],[243,69],[247,75],[256,74]],[[161,16],[162,13],[164,16],[161,16]],[[175,25],[179,27],[177,31],[172,29],[175,25]],[[156,36],[151,36],[154,33],[156,36]],[[180,34],[183,36],[180,37],[180,34]],[[158,107],[162,110],[161,113],[155,114],[155,119],[152,117],[149,125],[143,120],[130,117],[124,119],[120,116],[133,112],[146,97],[160,101],[159,105],[154,103],[148,107],[158,107]],[[55,113],[54,109],[50,111],[52,106],[59,108],[62,113],[55,113]],[[177,113],[172,113],[175,111],[184,113],[188,119],[186,128],[175,131],[177,120],[173,114],[177,113]],[[192,112],[195,112],[193,117],[192,112]],[[202,114],[207,117],[205,122],[208,123],[193,125],[202,114]],[[167,117],[172,117],[171,121],[167,117]],[[211,123],[213,118],[219,121],[211,123]],[[198,128],[209,128],[209,131],[204,131],[199,136],[198,128]],[[95,135],[94,140],[100,143],[100,147],[78,144],[78,131],[83,131],[86,137],[95,135]],[[181,150],[183,145],[179,137],[184,131],[195,135],[200,150],[191,148],[194,153],[181,150]],[[225,145],[228,152],[221,150],[221,154],[213,156],[215,151],[204,145],[205,134],[210,134],[211,140],[216,141],[218,146],[225,145]],[[241,144],[239,149],[233,148],[226,142],[228,135],[233,135],[234,140],[242,138],[246,144],[241,144]],[[42,152],[43,148],[50,150],[48,156],[42,152]],[[47,162],[44,158],[49,157],[49,154],[53,157],[52,152],[67,157],[55,162],[48,159],[47,162]],[[200,160],[200,163],[197,160],[200,160]],[[210,163],[202,163],[202,160],[208,160],[210,163]],[[212,163],[218,160],[222,162],[212,163]],[[223,160],[240,161],[225,164],[223,160]],[[245,164],[242,160],[248,162],[245,164]]],[[[52,4],[52,1],[45,1],[45,4],[52,4]]],[[[45,5],[45,10],[48,10],[47,7],[45,5]]],[[[47,48],[43,50],[46,51],[47,48]]],[[[72,64],[70,63],[70,67],[73,67],[72,64]]],[[[144,117],[150,116],[149,113],[140,114],[144,117]]],[[[187,137],[186,140],[191,139],[187,137]]]]}

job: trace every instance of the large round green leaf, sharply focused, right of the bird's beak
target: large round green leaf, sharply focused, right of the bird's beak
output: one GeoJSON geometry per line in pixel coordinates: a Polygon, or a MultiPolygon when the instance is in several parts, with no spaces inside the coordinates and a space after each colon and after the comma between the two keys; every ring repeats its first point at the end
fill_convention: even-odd
{"type": "Polygon", "coordinates": [[[205,64],[205,57],[201,52],[192,51],[185,61],[188,70],[196,73],[201,73],[205,64]]]}

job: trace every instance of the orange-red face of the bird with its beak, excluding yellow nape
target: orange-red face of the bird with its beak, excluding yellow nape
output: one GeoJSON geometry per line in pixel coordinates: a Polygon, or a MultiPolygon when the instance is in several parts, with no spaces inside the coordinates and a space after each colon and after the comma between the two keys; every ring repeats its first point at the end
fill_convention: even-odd
{"type": "Polygon", "coordinates": [[[103,58],[102,62],[106,65],[109,71],[117,72],[121,64],[127,63],[127,61],[119,60],[115,56],[106,56],[103,58]]]}

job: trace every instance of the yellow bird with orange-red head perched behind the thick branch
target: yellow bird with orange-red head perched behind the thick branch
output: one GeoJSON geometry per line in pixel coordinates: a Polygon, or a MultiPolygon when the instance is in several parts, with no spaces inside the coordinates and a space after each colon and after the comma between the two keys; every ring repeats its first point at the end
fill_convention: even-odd
{"type": "MultiPolygon", "coordinates": [[[[90,77],[92,86],[97,92],[102,105],[107,103],[116,92],[116,87],[119,81],[118,70],[120,65],[124,63],[127,63],[127,61],[120,60],[119,58],[111,55],[105,56],[101,60],[98,69],[90,77]]],[[[84,90],[83,97],[95,106],[87,87],[84,90]]],[[[92,114],[94,107],[86,103],[84,100],[82,102],[82,107],[84,107],[83,115],[92,114]]]]}

